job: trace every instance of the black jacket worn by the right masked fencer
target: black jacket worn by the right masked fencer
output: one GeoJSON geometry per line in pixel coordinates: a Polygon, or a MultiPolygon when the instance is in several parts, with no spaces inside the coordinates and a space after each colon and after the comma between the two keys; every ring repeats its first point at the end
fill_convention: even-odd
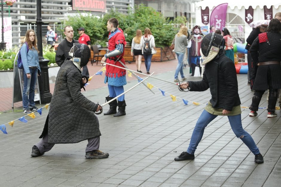
{"type": "Polygon", "coordinates": [[[222,50],[212,61],[205,65],[201,81],[188,81],[190,91],[205,91],[210,88],[213,108],[232,111],[233,106],[240,105],[236,69],[233,61],[222,50]]]}

